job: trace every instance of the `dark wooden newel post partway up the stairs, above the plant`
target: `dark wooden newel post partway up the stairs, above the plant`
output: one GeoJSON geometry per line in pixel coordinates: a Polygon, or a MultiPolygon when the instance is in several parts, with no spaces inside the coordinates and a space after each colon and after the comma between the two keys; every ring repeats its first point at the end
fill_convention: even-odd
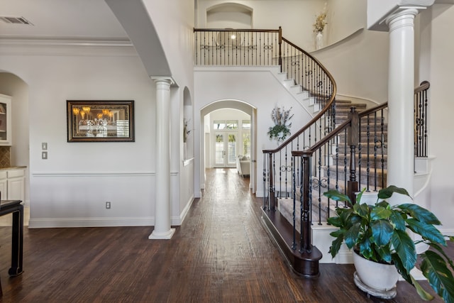
{"type": "Polygon", "coordinates": [[[348,113],[351,119],[350,126],[348,127],[347,133],[347,144],[350,146],[350,178],[347,182],[347,195],[353,204],[356,202],[356,192],[358,192],[358,181],[356,181],[356,147],[360,142],[360,125],[358,111],[355,106],[350,107],[350,113],[348,113]]]}

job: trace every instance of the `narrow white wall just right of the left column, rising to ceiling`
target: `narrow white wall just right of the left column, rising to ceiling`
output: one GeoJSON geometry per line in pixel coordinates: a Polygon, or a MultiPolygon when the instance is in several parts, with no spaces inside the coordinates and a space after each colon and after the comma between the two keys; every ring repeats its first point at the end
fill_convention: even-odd
{"type": "MultiPolygon", "coordinates": [[[[171,88],[172,114],[170,144],[172,157],[171,200],[172,225],[181,224],[194,199],[194,192],[200,191],[194,186],[194,165],[196,160],[184,163],[182,129],[184,118],[192,123],[192,113],[184,115],[184,107],[194,104],[194,1],[193,0],[142,0],[153,21],[167,62],[172,72],[175,86],[171,88]],[[178,167],[175,169],[175,167],[178,167]],[[175,190],[175,188],[179,188],[175,190]]],[[[147,39],[146,36],[143,39],[147,39]]],[[[153,54],[149,54],[155,60],[153,54]]],[[[150,71],[149,71],[150,72],[150,71]]],[[[153,75],[151,76],[160,76],[153,75]]],[[[193,107],[192,107],[193,109],[193,107]]],[[[193,137],[188,140],[193,140],[193,137]]],[[[192,142],[188,142],[189,155],[193,155],[192,142]]]]}

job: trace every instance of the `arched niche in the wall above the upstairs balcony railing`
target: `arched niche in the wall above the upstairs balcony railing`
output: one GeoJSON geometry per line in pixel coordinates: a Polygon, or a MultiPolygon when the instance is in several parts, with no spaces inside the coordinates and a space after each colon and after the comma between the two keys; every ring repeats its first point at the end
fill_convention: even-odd
{"type": "Polygon", "coordinates": [[[253,9],[224,3],[206,9],[206,28],[253,28],[253,9]]]}

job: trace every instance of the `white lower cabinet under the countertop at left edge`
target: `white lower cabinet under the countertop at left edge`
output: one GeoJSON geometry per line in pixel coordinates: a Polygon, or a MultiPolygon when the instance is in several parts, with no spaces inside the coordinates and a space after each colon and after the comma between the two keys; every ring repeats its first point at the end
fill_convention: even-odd
{"type": "Polygon", "coordinates": [[[0,192],[2,200],[26,199],[25,167],[0,170],[0,192]]]}

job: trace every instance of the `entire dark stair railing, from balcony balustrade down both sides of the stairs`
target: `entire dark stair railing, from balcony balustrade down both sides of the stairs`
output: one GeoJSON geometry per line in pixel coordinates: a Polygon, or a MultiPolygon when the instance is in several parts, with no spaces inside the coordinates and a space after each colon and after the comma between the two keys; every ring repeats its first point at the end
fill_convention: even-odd
{"type": "MultiPolygon", "coordinates": [[[[311,225],[323,225],[338,206],[331,205],[323,192],[337,189],[355,201],[359,188],[373,192],[386,184],[387,103],[358,113],[360,104],[336,101],[332,75],[282,37],[281,28],[194,29],[194,33],[195,65],[279,65],[317,108],[314,118],[287,141],[262,150],[262,218],[294,271],[306,277],[319,275],[321,253],[311,245],[311,225]],[[345,106],[350,106],[347,117],[342,114],[345,106]],[[288,221],[279,209],[287,203],[292,204],[288,221]]],[[[422,82],[414,92],[415,157],[427,157],[429,86],[422,82]]]]}

